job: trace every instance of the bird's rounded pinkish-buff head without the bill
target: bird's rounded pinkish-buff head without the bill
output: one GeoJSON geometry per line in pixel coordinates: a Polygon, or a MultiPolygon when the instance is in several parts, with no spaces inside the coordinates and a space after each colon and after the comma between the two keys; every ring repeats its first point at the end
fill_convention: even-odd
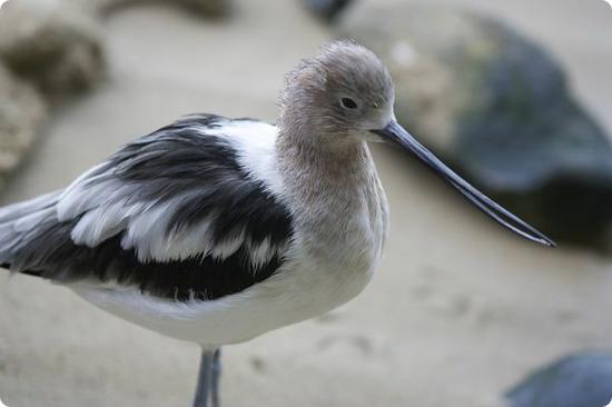
{"type": "Polygon", "coordinates": [[[287,76],[280,119],[285,127],[316,129],[305,135],[314,142],[342,146],[378,139],[369,130],[394,118],[394,99],[391,75],[376,54],[342,40],[287,76]]]}

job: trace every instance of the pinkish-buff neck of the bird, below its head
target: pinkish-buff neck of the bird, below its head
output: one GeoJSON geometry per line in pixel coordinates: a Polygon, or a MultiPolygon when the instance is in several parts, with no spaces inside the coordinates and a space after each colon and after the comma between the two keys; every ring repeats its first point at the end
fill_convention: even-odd
{"type": "Polygon", "coordinates": [[[364,141],[315,145],[279,131],[277,153],[286,199],[303,245],[316,258],[369,269],[386,230],[386,198],[364,141]]]}

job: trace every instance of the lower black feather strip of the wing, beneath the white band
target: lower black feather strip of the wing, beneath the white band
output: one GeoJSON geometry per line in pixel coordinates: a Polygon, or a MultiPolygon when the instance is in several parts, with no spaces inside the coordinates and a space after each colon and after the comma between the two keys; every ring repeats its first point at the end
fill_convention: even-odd
{"type": "Polygon", "coordinates": [[[77,246],[70,239],[72,225],[58,224],[41,230],[23,252],[48,245],[41,240],[52,239],[56,246],[41,261],[43,268],[27,269],[26,274],[57,280],[113,281],[134,286],[142,292],[175,300],[210,300],[243,291],[270,277],[280,266],[275,256],[263,267],[255,269],[245,247],[225,259],[190,258],[175,261],[138,260],[134,249],[124,250],[120,236],[116,236],[95,248],[77,246]],[[39,240],[40,239],[40,240],[39,240]]]}

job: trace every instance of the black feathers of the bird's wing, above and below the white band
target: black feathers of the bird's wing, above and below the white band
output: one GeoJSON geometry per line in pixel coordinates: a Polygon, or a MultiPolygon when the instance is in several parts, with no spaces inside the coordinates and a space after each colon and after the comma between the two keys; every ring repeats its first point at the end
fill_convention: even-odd
{"type": "Polygon", "coordinates": [[[263,265],[254,265],[248,245],[267,241],[274,247],[288,246],[290,215],[239,166],[227,140],[206,135],[206,129],[227,121],[211,115],[178,121],[127,145],[83,182],[88,188],[108,180],[134,186],[131,202],[157,205],[181,196],[167,237],[215,214],[213,246],[244,234],[244,244],[233,255],[140,261],[135,249],[121,247],[125,230],[96,247],[79,246],[70,234],[81,214],[65,222],[48,219],[28,231],[6,266],[58,282],[112,281],[177,300],[216,299],[270,277],[284,261],[282,251],[263,265]]]}

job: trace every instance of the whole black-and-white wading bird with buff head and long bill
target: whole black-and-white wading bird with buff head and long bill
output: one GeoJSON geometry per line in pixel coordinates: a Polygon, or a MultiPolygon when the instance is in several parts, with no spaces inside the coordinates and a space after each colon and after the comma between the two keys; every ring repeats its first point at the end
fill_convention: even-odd
{"type": "Polygon", "coordinates": [[[67,188],[0,209],[0,265],[201,347],[195,407],[220,406],[220,349],[320,316],[372,279],[389,226],[368,142],[406,150],[470,202],[553,247],[396,120],[389,71],[354,40],[285,80],[275,125],[199,113],[67,188]]]}

